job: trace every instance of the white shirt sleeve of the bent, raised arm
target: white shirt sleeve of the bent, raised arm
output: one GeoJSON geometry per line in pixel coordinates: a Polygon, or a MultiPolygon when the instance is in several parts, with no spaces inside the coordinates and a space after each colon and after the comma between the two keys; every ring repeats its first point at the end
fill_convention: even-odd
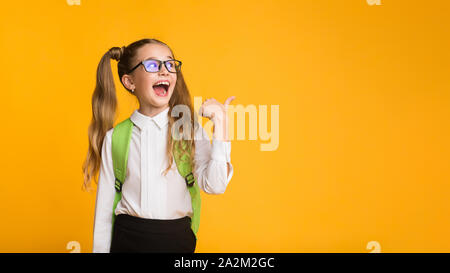
{"type": "Polygon", "coordinates": [[[209,136],[201,125],[195,138],[195,171],[197,183],[208,194],[222,194],[233,176],[231,165],[231,142],[213,138],[212,145],[209,136]],[[227,164],[230,173],[227,176],[227,164]]]}

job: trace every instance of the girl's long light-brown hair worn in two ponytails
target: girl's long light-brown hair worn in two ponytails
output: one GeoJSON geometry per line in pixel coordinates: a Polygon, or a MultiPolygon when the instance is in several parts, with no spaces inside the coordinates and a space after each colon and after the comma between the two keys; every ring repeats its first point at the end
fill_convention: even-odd
{"type": "MultiPolygon", "coordinates": [[[[86,159],[83,163],[82,170],[84,175],[83,190],[91,190],[91,181],[94,179],[95,183],[98,183],[97,176],[100,171],[101,166],[101,150],[103,145],[103,140],[105,138],[106,132],[113,128],[114,120],[117,109],[117,97],[116,88],[114,85],[114,78],[111,71],[111,59],[117,60],[117,70],[119,78],[126,74],[133,66],[136,61],[137,50],[145,44],[158,43],[167,46],[172,52],[170,47],[165,43],[157,39],[142,39],[131,43],[128,46],[123,47],[112,47],[110,48],[101,58],[100,63],[97,67],[97,81],[92,95],[92,120],[88,129],[89,137],[89,148],[86,155],[86,159]]],[[[173,52],[172,52],[173,54],[173,52]]],[[[175,56],[173,55],[175,58],[175,56]]],[[[123,87],[128,90],[122,81],[120,81],[123,87]]],[[[196,120],[196,115],[194,115],[194,108],[192,107],[191,96],[186,83],[183,78],[183,73],[181,71],[177,72],[177,81],[169,100],[169,112],[168,112],[168,134],[167,134],[167,151],[166,156],[169,162],[169,166],[164,171],[164,175],[167,174],[169,169],[172,167],[173,162],[173,148],[181,148],[183,153],[190,153],[191,158],[194,159],[195,154],[195,142],[194,142],[194,131],[198,128],[198,123],[196,120]],[[170,115],[172,108],[176,105],[186,105],[189,107],[191,112],[191,136],[187,140],[173,140],[172,139],[172,126],[175,122],[174,117],[170,115]],[[188,145],[181,145],[181,142],[186,142],[188,145]],[[183,149],[183,146],[185,148],[183,149]]],[[[183,128],[180,128],[180,132],[183,128]]],[[[195,168],[195,162],[192,160],[192,167],[195,168]]]]}

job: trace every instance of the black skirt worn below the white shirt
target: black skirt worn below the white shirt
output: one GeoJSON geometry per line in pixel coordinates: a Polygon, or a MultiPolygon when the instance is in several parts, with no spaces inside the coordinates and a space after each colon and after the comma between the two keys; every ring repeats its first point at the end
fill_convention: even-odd
{"type": "Polygon", "coordinates": [[[193,253],[196,244],[189,216],[160,220],[119,214],[114,221],[110,252],[193,253]]]}

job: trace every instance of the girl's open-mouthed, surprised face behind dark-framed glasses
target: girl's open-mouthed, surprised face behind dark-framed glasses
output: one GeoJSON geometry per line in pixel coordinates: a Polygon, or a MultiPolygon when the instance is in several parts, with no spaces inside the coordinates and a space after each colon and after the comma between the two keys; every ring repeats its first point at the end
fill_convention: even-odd
{"type": "MultiPolygon", "coordinates": [[[[166,46],[146,44],[138,49],[133,66],[148,58],[160,61],[174,59],[166,46]]],[[[139,65],[129,75],[124,75],[122,80],[130,90],[134,89],[134,94],[139,100],[140,111],[151,115],[159,113],[169,105],[177,81],[177,73],[167,71],[163,64],[159,72],[147,72],[143,65],[139,65]],[[168,87],[159,85],[161,81],[168,82],[168,87]]]]}

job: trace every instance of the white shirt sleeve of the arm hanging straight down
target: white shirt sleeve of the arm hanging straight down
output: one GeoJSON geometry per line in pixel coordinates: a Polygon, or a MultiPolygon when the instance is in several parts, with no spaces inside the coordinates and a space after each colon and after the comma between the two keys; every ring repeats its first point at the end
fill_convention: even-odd
{"type": "Polygon", "coordinates": [[[111,153],[112,129],[106,133],[102,145],[102,162],[95,201],[94,242],[92,252],[109,252],[112,236],[114,205],[114,171],[111,153]]]}

